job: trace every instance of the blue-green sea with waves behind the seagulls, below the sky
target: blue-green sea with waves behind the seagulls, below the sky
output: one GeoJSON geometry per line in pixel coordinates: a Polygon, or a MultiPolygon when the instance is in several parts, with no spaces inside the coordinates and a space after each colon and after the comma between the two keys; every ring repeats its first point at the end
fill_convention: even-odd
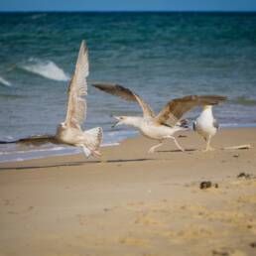
{"type": "MultiPolygon", "coordinates": [[[[227,95],[214,108],[222,127],[256,125],[255,13],[0,13],[0,141],[55,134],[81,40],[92,81],[135,90],[159,111],[187,94],[227,95]]],[[[104,128],[104,144],[137,133],[111,129],[111,114],[140,115],[135,103],[89,85],[83,128],[104,128]]],[[[192,121],[199,113],[186,116],[192,121]]],[[[78,152],[0,145],[0,162],[78,152]]]]}

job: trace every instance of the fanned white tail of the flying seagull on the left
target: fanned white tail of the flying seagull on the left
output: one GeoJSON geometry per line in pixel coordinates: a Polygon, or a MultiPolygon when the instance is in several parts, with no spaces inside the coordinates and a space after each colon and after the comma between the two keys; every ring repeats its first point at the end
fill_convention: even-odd
{"type": "Polygon", "coordinates": [[[103,140],[103,130],[101,127],[92,128],[83,132],[86,138],[86,144],[88,144],[89,149],[92,151],[97,151],[103,140]]]}

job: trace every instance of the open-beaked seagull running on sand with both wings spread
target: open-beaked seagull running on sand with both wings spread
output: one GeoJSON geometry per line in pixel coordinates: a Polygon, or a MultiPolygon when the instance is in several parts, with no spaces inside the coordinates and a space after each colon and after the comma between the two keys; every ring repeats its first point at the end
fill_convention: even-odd
{"type": "Polygon", "coordinates": [[[176,98],[155,115],[151,107],[135,92],[130,89],[113,83],[94,82],[92,85],[112,95],[119,96],[127,101],[137,101],[142,108],[143,116],[113,116],[117,119],[115,125],[128,125],[137,128],[142,135],[147,138],[159,141],[159,144],[151,147],[149,153],[154,153],[157,148],[163,145],[166,139],[174,140],[177,148],[185,151],[178,143],[174,134],[181,130],[187,130],[187,122],[182,116],[198,105],[214,105],[223,100],[223,96],[218,95],[189,95],[176,98]]]}

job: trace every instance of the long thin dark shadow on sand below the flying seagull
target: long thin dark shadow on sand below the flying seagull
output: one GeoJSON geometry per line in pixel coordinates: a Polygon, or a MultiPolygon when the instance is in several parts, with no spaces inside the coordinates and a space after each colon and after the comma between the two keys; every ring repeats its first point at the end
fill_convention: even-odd
{"type": "Polygon", "coordinates": [[[42,166],[24,166],[24,167],[1,167],[0,171],[8,171],[8,170],[31,170],[31,169],[46,169],[46,168],[61,168],[61,167],[77,167],[89,164],[104,164],[104,163],[129,163],[129,162],[144,162],[144,161],[152,161],[154,159],[151,158],[139,158],[139,159],[113,159],[113,160],[90,160],[90,161],[76,161],[76,162],[68,162],[68,163],[60,163],[55,165],[42,165],[42,166]]]}

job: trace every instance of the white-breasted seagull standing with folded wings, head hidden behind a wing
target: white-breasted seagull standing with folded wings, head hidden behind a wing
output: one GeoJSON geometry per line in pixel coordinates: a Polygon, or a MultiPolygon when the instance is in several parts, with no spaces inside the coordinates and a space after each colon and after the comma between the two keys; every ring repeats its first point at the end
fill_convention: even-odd
{"type": "Polygon", "coordinates": [[[205,152],[214,150],[209,146],[209,142],[210,139],[216,134],[218,128],[219,124],[212,114],[212,105],[202,106],[200,115],[192,123],[192,129],[201,135],[205,140],[205,152]]]}

